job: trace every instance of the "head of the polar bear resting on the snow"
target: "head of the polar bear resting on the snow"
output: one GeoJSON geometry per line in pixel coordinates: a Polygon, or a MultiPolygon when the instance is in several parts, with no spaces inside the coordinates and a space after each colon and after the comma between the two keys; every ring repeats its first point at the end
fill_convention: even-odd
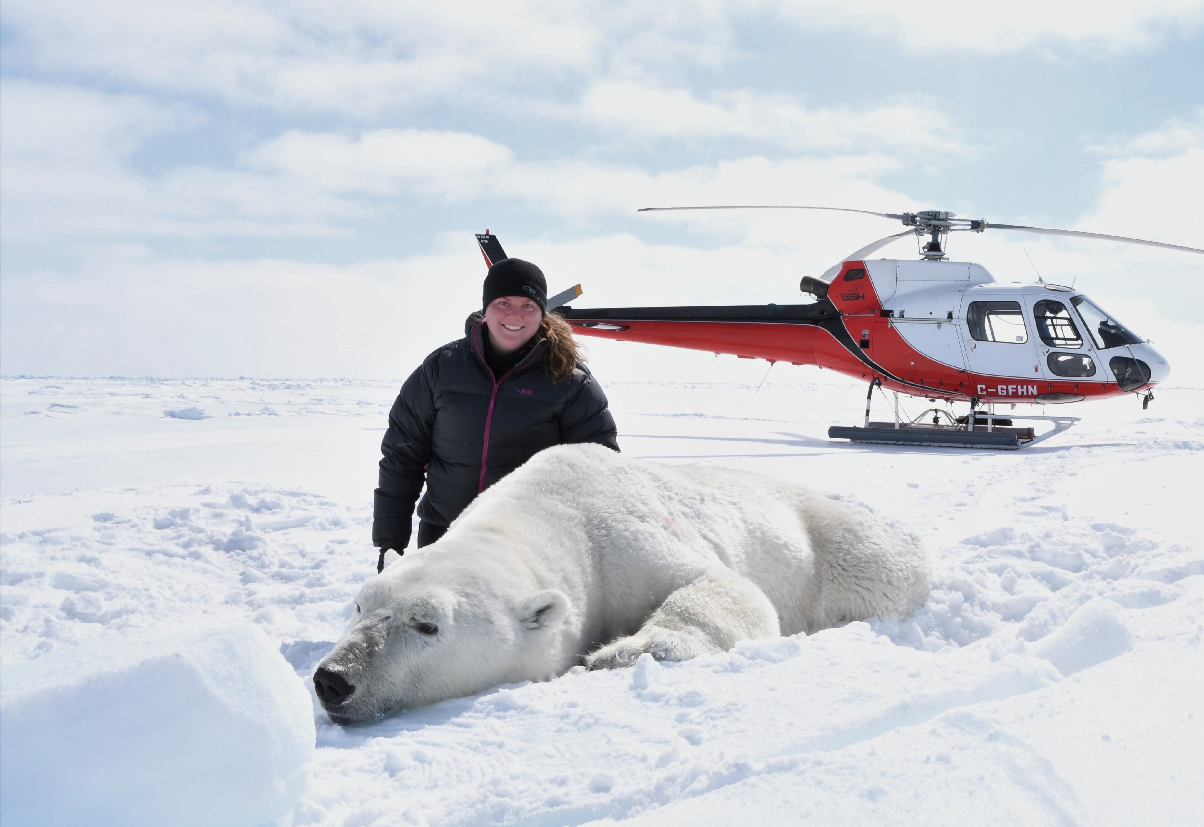
{"type": "Polygon", "coordinates": [[[524,589],[489,555],[432,545],[372,578],[313,681],[335,723],[543,680],[562,662],[569,614],[556,590],[524,589]]]}

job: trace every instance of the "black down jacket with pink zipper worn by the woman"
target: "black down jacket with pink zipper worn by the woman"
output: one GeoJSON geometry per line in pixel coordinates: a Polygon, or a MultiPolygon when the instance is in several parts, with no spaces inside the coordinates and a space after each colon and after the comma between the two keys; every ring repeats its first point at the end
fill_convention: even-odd
{"type": "Polygon", "coordinates": [[[480,314],[465,338],[444,344],[414,371],[389,412],[380,443],[372,540],[409,539],[411,514],[448,526],[479,492],[550,448],[596,442],[619,450],[606,394],[585,368],[553,384],[539,339],[514,367],[495,377],[485,361],[480,314]]]}

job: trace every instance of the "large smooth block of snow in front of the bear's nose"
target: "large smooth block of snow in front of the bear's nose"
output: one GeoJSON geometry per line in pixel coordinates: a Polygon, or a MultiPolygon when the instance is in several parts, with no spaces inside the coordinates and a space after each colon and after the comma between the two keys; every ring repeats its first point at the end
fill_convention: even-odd
{"type": "MultiPolygon", "coordinates": [[[[96,581],[54,578],[70,620],[96,581]]],[[[6,825],[279,823],[314,752],[307,693],[256,626],[107,637],[6,664],[6,825]],[[214,794],[220,791],[220,794],[214,794]]]]}

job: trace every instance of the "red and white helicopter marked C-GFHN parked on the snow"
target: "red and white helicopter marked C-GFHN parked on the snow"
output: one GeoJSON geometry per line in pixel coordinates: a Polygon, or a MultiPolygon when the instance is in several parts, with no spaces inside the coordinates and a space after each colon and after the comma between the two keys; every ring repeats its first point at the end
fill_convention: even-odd
{"type": "MultiPolygon", "coordinates": [[[[1016,449],[1067,430],[1078,418],[1010,412],[1002,418],[995,414],[995,404],[1044,406],[1138,394],[1145,407],[1170,366],[1149,341],[1072,287],[1041,280],[999,284],[980,264],[948,261],[948,234],[1016,230],[1204,254],[1204,249],[1143,238],[995,224],[936,209],[895,214],[840,207],[730,206],[639,212],[783,208],[866,213],[899,220],[908,229],[858,249],[821,278],[804,277],[799,289],[815,297],[808,305],[562,306],[580,295],[578,285],[549,300],[548,308],[561,307],[574,332],[586,336],[818,365],[864,379],[869,383],[864,426],[832,427],[832,438],[1016,449]],[[917,237],[920,260],[868,258],[907,235],[917,237]],[[874,388],[895,391],[892,423],[869,421],[874,388]],[[898,394],[940,400],[946,407],[901,421],[898,394]],[[969,402],[969,414],[955,417],[955,402],[969,402]],[[1011,420],[1045,420],[1054,427],[1037,435],[1031,427],[1015,427],[1011,420]]],[[[504,258],[496,236],[486,232],[477,238],[486,262],[504,258]]]]}

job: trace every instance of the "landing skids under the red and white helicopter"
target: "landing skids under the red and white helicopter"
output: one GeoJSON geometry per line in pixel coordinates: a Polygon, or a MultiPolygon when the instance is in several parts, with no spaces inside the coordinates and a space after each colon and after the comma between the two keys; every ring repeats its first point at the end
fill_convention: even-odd
{"type": "Polygon", "coordinates": [[[869,394],[866,395],[864,427],[833,425],[828,429],[830,439],[849,439],[850,442],[879,445],[932,445],[934,448],[1019,450],[1028,445],[1035,445],[1069,430],[1080,419],[1080,417],[1038,417],[1013,413],[1001,417],[995,413],[995,406],[988,402],[985,413],[975,413],[974,406],[972,406],[972,415],[955,419],[940,408],[929,408],[913,421],[904,423],[899,419],[898,394],[895,394],[895,421],[872,423],[869,421],[869,403],[874,395],[874,388],[880,384],[878,379],[874,379],[869,384],[869,394]],[[920,421],[929,413],[933,415],[931,423],[920,421]],[[948,424],[942,424],[942,415],[949,420],[948,424]],[[1038,435],[1031,427],[1013,427],[1011,421],[1016,419],[1052,423],[1054,427],[1038,435]],[[996,425],[996,420],[1007,421],[1007,425],[996,425]]]}

